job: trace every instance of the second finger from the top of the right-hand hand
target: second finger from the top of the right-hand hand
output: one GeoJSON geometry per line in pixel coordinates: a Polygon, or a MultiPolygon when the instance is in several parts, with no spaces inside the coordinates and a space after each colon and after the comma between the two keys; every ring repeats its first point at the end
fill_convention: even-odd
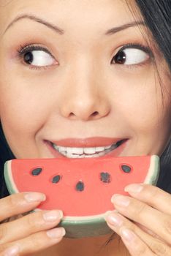
{"type": "Polygon", "coordinates": [[[112,198],[115,209],[123,216],[151,230],[161,239],[171,244],[171,217],[141,201],[127,196],[115,195],[112,198]]]}

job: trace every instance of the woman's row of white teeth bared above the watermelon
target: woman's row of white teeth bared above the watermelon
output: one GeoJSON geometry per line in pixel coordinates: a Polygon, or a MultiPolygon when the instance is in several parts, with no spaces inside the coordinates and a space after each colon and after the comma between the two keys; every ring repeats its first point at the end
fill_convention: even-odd
{"type": "Polygon", "coordinates": [[[116,144],[110,146],[92,147],[92,148],[72,148],[62,147],[52,144],[56,151],[60,152],[64,157],[68,158],[83,158],[83,157],[101,157],[117,148],[116,144]]]}

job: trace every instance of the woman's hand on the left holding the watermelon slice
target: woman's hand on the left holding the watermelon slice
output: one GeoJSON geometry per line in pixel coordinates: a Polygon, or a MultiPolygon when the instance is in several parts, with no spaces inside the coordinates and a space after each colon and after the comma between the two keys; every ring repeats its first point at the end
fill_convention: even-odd
{"type": "MultiPolygon", "coordinates": [[[[45,195],[18,193],[0,200],[0,222],[36,208],[45,195]]],[[[65,234],[58,225],[61,211],[37,211],[0,225],[0,256],[32,255],[61,241],[65,234]]]]}

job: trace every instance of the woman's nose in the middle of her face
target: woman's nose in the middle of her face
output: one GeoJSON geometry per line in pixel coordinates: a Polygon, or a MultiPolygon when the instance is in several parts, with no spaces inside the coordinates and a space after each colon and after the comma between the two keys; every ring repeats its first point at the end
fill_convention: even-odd
{"type": "Polygon", "coordinates": [[[61,95],[61,116],[74,120],[94,120],[110,113],[110,102],[104,84],[94,72],[86,69],[68,75],[61,95]]]}

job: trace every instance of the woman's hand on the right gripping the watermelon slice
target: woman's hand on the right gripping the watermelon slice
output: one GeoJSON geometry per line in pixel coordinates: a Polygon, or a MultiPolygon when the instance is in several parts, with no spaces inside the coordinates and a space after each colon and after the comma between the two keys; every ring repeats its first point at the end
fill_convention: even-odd
{"type": "Polygon", "coordinates": [[[129,196],[114,195],[116,211],[107,225],[121,236],[132,256],[171,255],[171,195],[157,187],[132,184],[129,196]]]}

